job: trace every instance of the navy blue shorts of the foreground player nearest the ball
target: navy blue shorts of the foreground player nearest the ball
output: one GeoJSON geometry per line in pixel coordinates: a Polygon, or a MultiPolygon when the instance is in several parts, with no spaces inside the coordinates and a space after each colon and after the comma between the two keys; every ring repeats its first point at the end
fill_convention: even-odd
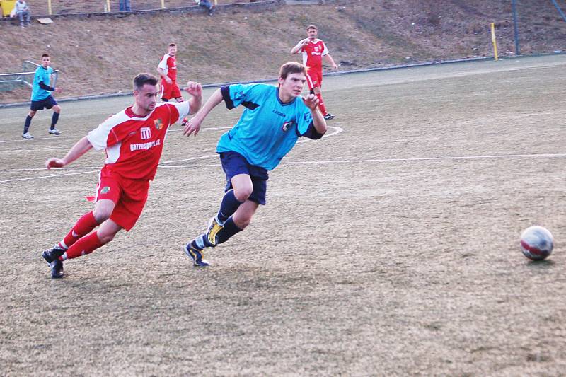
{"type": "Polygon", "coordinates": [[[267,180],[270,178],[267,169],[259,166],[250,165],[248,160],[240,153],[221,152],[220,162],[222,169],[226,173],[226,188],[224,192],[231,190],[231,179],[234,175],[247,174],[252,179],[253,191],[248,200],[265,205],[265,193],[267,192],[267,180]]]}

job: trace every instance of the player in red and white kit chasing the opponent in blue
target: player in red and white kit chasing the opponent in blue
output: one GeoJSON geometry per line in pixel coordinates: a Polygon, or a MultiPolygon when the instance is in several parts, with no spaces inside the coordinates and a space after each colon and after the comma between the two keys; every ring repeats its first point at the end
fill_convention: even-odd
{"type": "Polygon", "coordinates": [[[90,254],[108,243],[121,229],[129,231],[141,215],[163,151],[168,128],[202,103],[200,83],[187,83],[190,100],[157,103],[157,78],[150,74],[134,77],[134,105],[112,115],[88,132],[63,158],[49,158],[47,169],[62,168],[94,148],[105,150],[94,210],[83,215],[63,240],[45,250],[42,257],[51,276],[63,277],[63,260],[90,254]],[[97,231],[93,231],[98,227],[97,231]],[[91,233],[91,231],[93,231],[91,233]]]}

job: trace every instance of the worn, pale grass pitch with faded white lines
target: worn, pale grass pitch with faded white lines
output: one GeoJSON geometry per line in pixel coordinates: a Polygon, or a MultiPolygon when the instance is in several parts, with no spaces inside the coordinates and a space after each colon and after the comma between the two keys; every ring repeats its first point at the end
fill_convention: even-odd
{"type": "MultiPolygon", "coordinates": [[[[91,209],[103,153],[47,171],[132,103],[0,110],[0,365],[6,376],[559,376],[566,370],[566,56],[326,77],[328,137],[270,174],[267,206],[195,269],[214,146],[168,134],[137,226],[50,279],[40,256],[91,209]],[[550,229],[530,262],[519,234],[550,229]]],[[[211,91],[205,93],[207,98],[211,91]]]]}

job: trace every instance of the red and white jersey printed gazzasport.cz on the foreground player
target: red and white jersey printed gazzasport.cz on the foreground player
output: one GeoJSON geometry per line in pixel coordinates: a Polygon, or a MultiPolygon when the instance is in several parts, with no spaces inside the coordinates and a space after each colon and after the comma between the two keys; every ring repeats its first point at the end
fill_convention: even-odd
{"type": "Polygon", "coordinates": [[[88,132],[94,149],[106,149],[106,169],[134,180],[153,180],[169,126],[190,112],[188,101],[158,103],[139,117],[127,108],[88,132]]]}

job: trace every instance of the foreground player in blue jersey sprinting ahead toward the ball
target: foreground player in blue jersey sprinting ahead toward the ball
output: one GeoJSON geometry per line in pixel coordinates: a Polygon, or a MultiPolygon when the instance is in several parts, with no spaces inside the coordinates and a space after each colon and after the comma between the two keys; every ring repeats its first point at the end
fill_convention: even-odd
{"type": "Polygon", "coordinates": [[[246,107],[216,146],[226,173],[226,189],[207,231],[185,245],[185,253],[195,266],[209,265],[202,259],[204,248],[226,242],[250,224],[258,206],[265,204],[267,171],[279,164],[297,139],[320,139],[326,132],[316,95],[297,98],[306,83],[306,67],[294,62],[283,64],[278,81],[277,87],[262,83],[223,86],[185,125],[183,133],[190,136],[194,132],[196,136],[204,118],[222,100],[228,109],[246,107]]]}

